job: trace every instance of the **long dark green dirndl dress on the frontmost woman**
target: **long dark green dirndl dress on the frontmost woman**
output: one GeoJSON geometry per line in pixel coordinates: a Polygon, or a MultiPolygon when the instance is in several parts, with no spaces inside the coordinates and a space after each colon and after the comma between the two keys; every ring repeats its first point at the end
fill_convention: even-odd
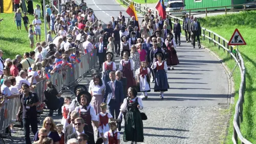
{"type": "Polygon", "coordinates": [[[143,142],[143,122],[138,109],[138,98],[135,101],[127,98],[127,112],[124,121],[123,141],[143,142]]]}

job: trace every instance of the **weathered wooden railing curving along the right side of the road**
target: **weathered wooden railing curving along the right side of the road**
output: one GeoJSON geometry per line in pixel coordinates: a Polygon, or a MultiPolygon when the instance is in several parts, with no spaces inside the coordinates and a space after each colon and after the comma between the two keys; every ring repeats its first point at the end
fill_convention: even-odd
{"type": "MultiPolygon", "coordinates": [[[[169,15],[169,16],[174,19],[178,18],[178,17],[172,16],[172,15],[169,15]]],[[[178,19],[183,21],[183,19],[181,19],[181,18],[178,18],[178,19]]],[[[175,22],[172,21],[172,23],[175,23],[175,22]]],[[[242,144],[252,144],[250,141],[248,141],[247,139],[245,139],[243,137],[243,135],[240,131],[240,124],[241,124],[241,122],[243,122],[243,103],[244,103],[244,94],[245,94],[245,88],[246,88],[244,59],[239,52],[237,54],[232,53],[233,47],[227,45],[228,44],[227,39],[223,38],[222,36],[218,35],[217,33],[212,32],[206,28],[201,28],[201,29],[203,31],[203,34],[202,34],[203,40],[206,37],[209,39],[209,43],[213,42],[215,46],[216,46],[216,44],[219,46],[219,49],[223,48],[223,50],[227,51],[227,54],[230,54],[230,56],[238,64],[238,67],[239,67],[240,73],[241,73],[241,82],[240,82],[240,88],[239,88],[239,98],[238,98],[238,101],[236,104],[234,119],[233,119],[232,141],[233,141],[233,143],[238,143],[238,138],[239,138],[239,140],[241,141],[242,144]],[[206,33],[208,33],[208,34],[206,34],[206,33]]]]}

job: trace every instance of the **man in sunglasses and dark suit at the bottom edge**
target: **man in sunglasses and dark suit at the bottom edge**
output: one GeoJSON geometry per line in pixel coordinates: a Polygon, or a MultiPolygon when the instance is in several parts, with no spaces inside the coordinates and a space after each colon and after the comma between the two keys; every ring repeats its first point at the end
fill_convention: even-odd
{"type": "Polygon", "coordinates": [[[71,135],[68,135],[67,141],[71,138],[77,138],[79,134],[83,133],[83,134],[87,134],[89,137],[89,140],[87,142],[88,144],[95,144],[93,134],[84,129],[85,124],[84,124],[84,120],[81,117],[78,117],[74,120],[74,125],[75,125],[76,131],[73,132],[71,135]]]}

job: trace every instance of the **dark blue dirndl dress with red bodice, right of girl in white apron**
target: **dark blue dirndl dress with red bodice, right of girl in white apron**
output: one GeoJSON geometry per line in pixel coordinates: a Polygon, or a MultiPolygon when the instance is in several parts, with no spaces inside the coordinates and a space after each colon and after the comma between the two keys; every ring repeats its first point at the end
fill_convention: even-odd
{"type": "MultiPolygon", "coordinates": [[[[156,62],[157,63],[157,62],[156,62]]],[[[169,89],[168,79],[166,76],[166,72],[164,70],[164,61],[162,62],[162,65],[159,66],[157,63],[156,69],[156,79],[155,79],[155,92],[166,92],[169,89]]]]}

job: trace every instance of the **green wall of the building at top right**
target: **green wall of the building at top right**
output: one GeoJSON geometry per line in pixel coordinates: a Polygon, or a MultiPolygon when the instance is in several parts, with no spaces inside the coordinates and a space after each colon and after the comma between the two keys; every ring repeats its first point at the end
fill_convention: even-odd
{"type": "MultiPolygon", "coordinates": [[[[186,9],[196,9],[196,8],[207,8],[207,7],[219,7],[219,6],[229,6],[232,5],[232,1],[246,1],[246,0],[184,0],[186,9]]],[[[203,9],[202,9],[203,10],[203,9]]],[[[198,11],[198,10],[196,10],[198,11]]]]}

